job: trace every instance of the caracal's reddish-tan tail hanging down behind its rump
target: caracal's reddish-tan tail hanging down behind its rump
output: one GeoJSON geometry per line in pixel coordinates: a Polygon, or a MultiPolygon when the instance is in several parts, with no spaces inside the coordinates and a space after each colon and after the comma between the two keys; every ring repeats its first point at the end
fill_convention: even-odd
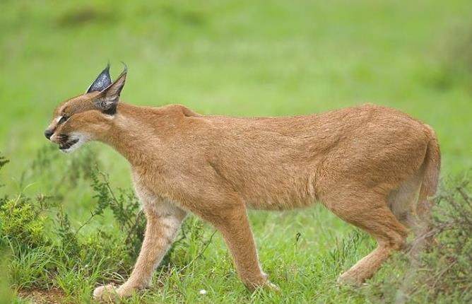
{"type": "Polygon", "coordinates": [[[430,134],[430,141],[427,144],[425,160],[423,161],[423,181],[420,187],[420,196],[418,197],[417,214],[424,220],[430,218],[430,209],[432,204],[429,198],[435,195],[439,182],[439,170],[441,168],[441,152],[435,131],[428,126],[427,131],[430,134]]]}

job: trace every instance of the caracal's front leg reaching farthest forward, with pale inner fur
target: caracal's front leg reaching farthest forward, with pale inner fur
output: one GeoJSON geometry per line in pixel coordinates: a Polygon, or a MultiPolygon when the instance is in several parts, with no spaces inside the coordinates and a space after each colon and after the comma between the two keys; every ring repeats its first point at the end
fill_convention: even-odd
{"type": "Polygon", "coordinates": [[[172,245],[186,215],[185,211],[165,199],[143,201],[143,206],[147,219],[146,233],[131,276],[118,288],[112,285],[95,288],[93,297],[96,300],[110,300],[114,296],[126,297],[134,291],[146,288],[151,283],[155,267],[172,245]]]}

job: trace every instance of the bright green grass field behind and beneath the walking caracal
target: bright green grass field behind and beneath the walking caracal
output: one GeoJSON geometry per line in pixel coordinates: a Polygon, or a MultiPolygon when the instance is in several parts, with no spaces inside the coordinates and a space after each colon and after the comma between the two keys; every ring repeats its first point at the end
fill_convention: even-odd
{"type": "MultiPolygon", "coordinates": [[[[388,105],[437,131],[443,177],[472,167],[468,0],[4,0],[0,9],[0,151],[11,159],[2,170],[6,187],[0,194],[26,185],[25,192],[54,194],[50,174],[25,183],[22,172],[49,145],[43,131],[54,107],[83,93],[109,60],[114,76],[120,61],[129,66],[126,103],[181,103],[202,114],[237,116],[388,105]]],[[[112,185],[130,187],[125,160],[107,146],[90,146],[112,185]]],[[[54,157],[59,164],[69,158],[54,157]]],[[[64,175],[64,168],[54,170],[64,175]]],[[[64,193],[76,226],[93,206],[88,182],[79,186],[64,193]]],[[[158,276],[151,291],[131,302],[358,303],[379,292],[336,286],[336,276],[373,242],[356,240],[354,252],[336,264],[330,252],[352,238],[353,228],[321,207],[250,216],[261,262],[282,295],[247,293],[216,235],[187,276],[158,276]],[[199,296],[202,288],[206,298],[199,296]]],[[[96,225],[107,226],[107,217],[96,225]]],[[[370,286],[378,287],[392,271],[393,265],[384,267],[370,286]]],[[[90,296],[93,283],[83,286],[83,295],[90,296]]]]}

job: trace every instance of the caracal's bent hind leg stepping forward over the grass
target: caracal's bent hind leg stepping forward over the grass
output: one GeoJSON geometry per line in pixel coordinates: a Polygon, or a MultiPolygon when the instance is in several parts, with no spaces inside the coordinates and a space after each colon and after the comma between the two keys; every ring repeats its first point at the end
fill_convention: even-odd
{"type": "Polygon", "coordinates": [[[360,259],[343,273],[340,283],[360,284],[369,279],[380,265],[396,250],[401,250],[408,235],[403,226],[391,213],[385,198],[379,194],[364,192],[336,199],[327,199],[326,206],[344,221],[351,223],[377,240],[377,248],[360,259]]]}

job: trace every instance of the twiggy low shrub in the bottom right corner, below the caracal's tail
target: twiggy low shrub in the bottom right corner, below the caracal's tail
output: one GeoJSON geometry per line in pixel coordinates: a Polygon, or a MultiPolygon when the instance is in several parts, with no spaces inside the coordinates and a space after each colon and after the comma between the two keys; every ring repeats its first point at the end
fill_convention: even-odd
{"type": "Polygon", "coordinates": [[[468,180],[452,180],[439,190],[430,229],[415,237],[410,250],[382,267],[382,279],[365,289],[372,300],[472,302],[472,187],[468,180]],[[393,276],[392,271],[399,275],[393,276]]]}

